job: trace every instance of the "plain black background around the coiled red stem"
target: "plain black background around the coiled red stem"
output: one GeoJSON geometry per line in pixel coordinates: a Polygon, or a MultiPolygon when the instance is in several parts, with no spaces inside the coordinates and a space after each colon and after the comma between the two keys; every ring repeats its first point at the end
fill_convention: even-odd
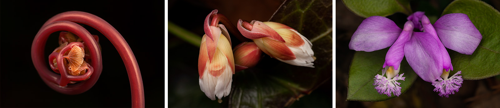
{"type": "MultiPolygon", "coordinates": [[[[84,11],[107,21],[127,41],[139,64],[145,107],[164,107],[164,2],[163,1],[27,1],[0,2],[0,107],[131,107],[130,85],[123,61],[112,44],[97,30],[102,49],[102,74],[88,91],[64,95],[50,89],[39,77],[30,47],[41,25],[57,13],[84,11]]],[[[45,46],[55,49],[58,32],[45,46]]]]}

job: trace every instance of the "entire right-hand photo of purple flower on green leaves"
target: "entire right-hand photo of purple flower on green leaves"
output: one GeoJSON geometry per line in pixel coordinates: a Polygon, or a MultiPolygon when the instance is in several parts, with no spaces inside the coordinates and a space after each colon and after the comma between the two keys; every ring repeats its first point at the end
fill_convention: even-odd
{"type": "MultiPolygon", "coordinates": [[[[444,106],[433,100],[462,100],[460,102],[464,103],[456,106],[467,107],[490,103],[479,99],[483,95],[473,95],[474,91],[485,92],[479,89],[484,86],[482,79],[500,81],[495,77],[500,73],[494,61],[499,55],[494,46],[498,42],[491,41],[498,40],[499,34],[489,30],[498,27],[483,23],[482,19],[489,15],[497,19],[500,13],[489,8],[488,3],[479,0],[430,2],[433,6],[428,6],[429,2],[416,1],[382,4],[342,0],[341,3],[337,11],[346,12],[340,12],[336,20],[351,23],[337,24],[337,31],[340,31],[337,41],[345,43],[338,49],[345,54],[337,56],[350,56],[351,59],[342,61],[350,64],[344,65],[350,68],[338,67],[344,69],[337,71],[337,75],[348,76],[337,76],[347,82],[344,85],[347,89],[337,88],[337,93],[345,95],[337,97],[348,103],[372,102],[363,105],[367,108],[375,104],[402,107],[392,105],[395,102],[403,102],[401,105],[406,107],[428,106],[420,102],[444,106]],[[414,103],[416,101],[419,103],[414,103]]],[[[495,88],[497,85],[488,86],[495,88]]],[[[497,93],[487,91],[495,90],[486,90],[491,95],[486,99],[494,100],[497,93]]]]}

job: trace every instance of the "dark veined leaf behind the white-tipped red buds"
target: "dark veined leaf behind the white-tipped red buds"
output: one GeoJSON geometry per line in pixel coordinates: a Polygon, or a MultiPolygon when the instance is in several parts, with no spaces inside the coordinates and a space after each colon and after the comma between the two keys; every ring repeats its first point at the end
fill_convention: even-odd
{"type": "MultiPolygon", "coordinates": [[[[315,67],[294,66],[264,55],[255,67],[234,74],[228,107],[290,107],[299,98],[307,97],[323,83],[331,81],[331,13],[331,0],[286,0],[270,21],[285,24],[309,39],[316,57],[315,67]]],[[[315,99],[331,99],[331,96],[325,97],[315,99]]],[[[326,103],[308,107],[332,106],[326,103]]]]}

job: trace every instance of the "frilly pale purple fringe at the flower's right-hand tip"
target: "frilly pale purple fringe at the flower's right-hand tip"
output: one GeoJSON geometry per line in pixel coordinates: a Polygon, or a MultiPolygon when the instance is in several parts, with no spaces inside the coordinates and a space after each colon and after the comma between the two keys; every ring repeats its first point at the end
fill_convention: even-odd
{"type": "MultiPolygon", "coordinates": [[[[443,72],[444,73],[444,72],[443,72]]],[[[445,96],[448,98],[449,94],[455,94],[458,92],[458,88],[462,86],[462,76],[459,76],[461,71],[456,72],[453,76],[448,77],[448,73],[446,73],[445,77],[437,79],[438,81],[434,81],[432,85],[435,87],[434,92],[439,92],[439,96],[445,96]],[[458,75],[458,76],[457,76],[458,75]]]]}

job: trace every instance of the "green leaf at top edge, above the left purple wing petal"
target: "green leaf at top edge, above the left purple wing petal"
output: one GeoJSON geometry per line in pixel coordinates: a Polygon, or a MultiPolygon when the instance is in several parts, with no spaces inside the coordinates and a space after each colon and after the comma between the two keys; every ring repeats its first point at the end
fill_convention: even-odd
{"type": "Polygon", "coordinates": [[[342,0],[345,6],[361,17],[387,16],[395,12],[411,14],[408,0],[342,0]]]}

